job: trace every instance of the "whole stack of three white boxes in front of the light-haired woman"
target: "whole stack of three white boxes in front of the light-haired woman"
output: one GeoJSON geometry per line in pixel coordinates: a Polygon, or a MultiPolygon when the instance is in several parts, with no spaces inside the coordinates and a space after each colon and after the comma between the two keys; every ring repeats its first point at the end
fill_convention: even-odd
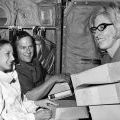
{"type": "Polygon", "coordinates": [[[92,120],[120,120],[120,62],[71,75],[77,106],[89,106],[92,120]]]}

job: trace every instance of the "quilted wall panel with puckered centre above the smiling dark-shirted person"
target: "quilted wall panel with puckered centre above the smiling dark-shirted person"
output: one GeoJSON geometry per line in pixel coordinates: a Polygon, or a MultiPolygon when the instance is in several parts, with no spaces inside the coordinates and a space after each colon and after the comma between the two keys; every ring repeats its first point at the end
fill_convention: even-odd
{"type": "Polygon", "coordinates": [[[16,4],[16,25],[40,25],[37,4],[30,0],[22,0],[22,2],[21,0],[17,0],[16,4]]]}

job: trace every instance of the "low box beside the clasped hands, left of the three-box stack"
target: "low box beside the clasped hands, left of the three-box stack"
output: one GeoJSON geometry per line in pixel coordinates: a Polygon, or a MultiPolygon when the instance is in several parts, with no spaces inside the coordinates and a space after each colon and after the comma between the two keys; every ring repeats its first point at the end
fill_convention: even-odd
{"type": "Polygon", "coordinates": [[[78,120],[89,118],[86,107],[77,107],[75,100],[59,100],[59,107],[56,108],[55,120],[78,120]]]}

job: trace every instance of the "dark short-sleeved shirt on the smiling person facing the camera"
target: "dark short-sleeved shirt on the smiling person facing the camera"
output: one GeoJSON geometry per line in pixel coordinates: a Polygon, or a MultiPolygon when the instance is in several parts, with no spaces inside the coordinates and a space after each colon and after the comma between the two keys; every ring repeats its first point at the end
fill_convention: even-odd
{"type": "Polygon", "coordinates": [[[41,85],[46,75],[46,72],[37,59],[34,59],[32,63],[20,61],[20,63],[16,65],[16,71],[23,94],[41,85]]]}

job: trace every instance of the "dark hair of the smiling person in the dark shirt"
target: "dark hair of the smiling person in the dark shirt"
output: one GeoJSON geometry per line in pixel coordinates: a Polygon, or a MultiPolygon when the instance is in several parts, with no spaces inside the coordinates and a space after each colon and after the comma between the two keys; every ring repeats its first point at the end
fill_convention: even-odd
{"type": "MultiPolygon", "coordinates": [[[[13,39],[11,41],[12,46],[13,46],[14,57],[15,57],[15,62],[16,63],[19,63],[18,53],[17,53],[17,41],[19,41],[20,39],[22,39],[24,37],[30,37],[31,40],[32,40],[33,46],[35,47],[35,40],[28,32],[26,32],[26,31],[16,31],[16,33],[14,34],[13,39]]],[[[34,49],[34,52],[35,52],[35,49],[34,49]]]]}

